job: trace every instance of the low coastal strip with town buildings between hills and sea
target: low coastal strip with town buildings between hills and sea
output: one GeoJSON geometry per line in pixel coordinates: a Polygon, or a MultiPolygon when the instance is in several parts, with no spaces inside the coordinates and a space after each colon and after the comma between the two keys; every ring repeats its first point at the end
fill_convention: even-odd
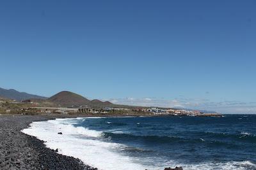
{"type": "MultiPolygon", "coordinates": [[[[152,115],[152,116],[163,116],[163,115],[170,115],[170,116],[189,116],[189,117],[220,117],[220,113],[203,113],[198,110],[183,110],[183,109],[172,109],[172,108],[156,108],[156,107],[131,107],[131,108],[93,108],[90,106],[71,106],[67,108],[53,108],[53,107],[40,107],[37,106],[36,103],[29,103],[30,105],[25,104],[28,103],[20,103],[15,100],[9,102],[10,104],[19,104],[19,108],[15,108],[15,111],[21,114],[25,113],[46,113],[46,114],[95,114],[95,115],[104,115],[104,114],[120,114],[120,115],[131,115],[133,113],[145,114],[145,115],[152,115]],[[24,107],[22,107],[24,106],[24,107]]],[[[5,101],[0,100],[0,108],[3,110],[3,106],[6,105],[5,101]]],[[[13,111],[12,107],[5,107],[6,113],[11,113],[13,111]]]]}

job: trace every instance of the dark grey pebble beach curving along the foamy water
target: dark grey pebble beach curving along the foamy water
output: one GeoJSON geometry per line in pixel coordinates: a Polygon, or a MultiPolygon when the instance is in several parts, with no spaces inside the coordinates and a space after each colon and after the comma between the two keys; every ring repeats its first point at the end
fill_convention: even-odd
{"type": "Polygon", "coordinates": [[[45,147],[44,141],[21,132],[31,122],[54,118],[68,117],[0,115],[0,169],[97,169],[74,157],[58,154],[45,147]]]}

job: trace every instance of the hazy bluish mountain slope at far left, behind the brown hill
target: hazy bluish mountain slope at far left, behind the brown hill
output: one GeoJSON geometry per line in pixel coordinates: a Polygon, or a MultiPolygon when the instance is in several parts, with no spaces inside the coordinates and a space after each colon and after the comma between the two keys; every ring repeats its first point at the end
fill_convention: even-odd
{"type": "Polygon", "coordinates": [[[25,92],[18,92],[17,90],[7,90],[0,88],[0,97],[6,98],[6,99],[12,99],[16,101],[24,101],[26,99],[47,99],[47,97],[37,96],[33,94],[28,94],[25,92]]]}

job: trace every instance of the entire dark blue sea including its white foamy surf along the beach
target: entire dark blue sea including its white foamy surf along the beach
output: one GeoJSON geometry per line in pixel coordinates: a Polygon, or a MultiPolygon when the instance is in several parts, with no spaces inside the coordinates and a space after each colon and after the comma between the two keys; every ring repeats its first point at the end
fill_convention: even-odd
{"type": "Polygon", "coordinates": [[[104,170],[256,169],[256,115],[58,118],[22,132],[104,170]]]}

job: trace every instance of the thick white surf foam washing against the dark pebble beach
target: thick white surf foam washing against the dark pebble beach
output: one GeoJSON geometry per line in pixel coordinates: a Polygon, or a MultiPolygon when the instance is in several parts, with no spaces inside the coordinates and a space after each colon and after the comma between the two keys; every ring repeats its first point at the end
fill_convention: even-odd
{"type": "Polygon", "coordinates": [[[23,129],[22,132],[44,140],[48,148],[54,150],[58,148],[59,153],[77,157],[85,164],[99,169],[146,169],[131,157],[112,151],[124,146],[93,139],[100,138],[102,132],[84,127],[74,127],[74,125],[65,123],[67,120],[63,122],[60,120],[33,122],[30,124],[31,127],[23,129]],[[63,134],[58,134],[58,132],[63,134]],[[89,138],[81,138],[83,136],[89,138]]]}

